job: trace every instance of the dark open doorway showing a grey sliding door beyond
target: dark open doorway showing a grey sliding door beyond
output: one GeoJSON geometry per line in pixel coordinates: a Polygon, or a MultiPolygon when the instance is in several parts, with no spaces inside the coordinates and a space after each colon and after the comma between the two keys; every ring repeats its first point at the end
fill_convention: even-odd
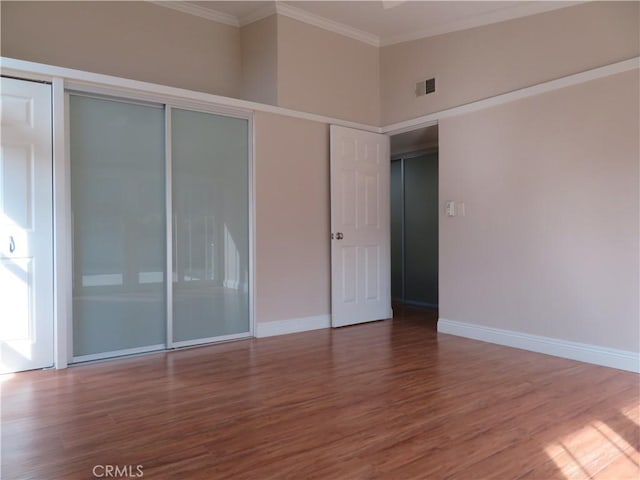
{"type": "Polygon", "coordinates": [[[438,307],[438,126],[391,137],[391,296],[438,307]]]}

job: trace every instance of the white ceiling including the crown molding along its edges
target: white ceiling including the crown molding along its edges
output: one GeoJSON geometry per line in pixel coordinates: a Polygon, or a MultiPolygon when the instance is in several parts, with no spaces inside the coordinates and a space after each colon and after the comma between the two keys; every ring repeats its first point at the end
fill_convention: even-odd
{"type": "Polygon", "coordinates": [[[277,12],[381,46],[533,15],[582,2],[211,0],[155,3],[235,26],[243,26],[277,12]]]}

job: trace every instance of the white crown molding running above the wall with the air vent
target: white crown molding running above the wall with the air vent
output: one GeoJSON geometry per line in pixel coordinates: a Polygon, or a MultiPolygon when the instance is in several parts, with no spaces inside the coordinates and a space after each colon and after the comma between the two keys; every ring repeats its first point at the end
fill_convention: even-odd
{"type": "Polygon", "coordinates": [[[387,36],[381,39],[380,46],[386,47],[388,45],[395,45],[397,43],[411,42],[413,40],[435,37],[436,35],[442,35],[444,33],[457,32],[460,30],[467,30],[469,28],[491,25],[493,23],[513,20],[515,18],[527,17],[529,15],[536,15],[538,13],[550,12],[552,10],[559,10],[561,8],[571,7],[580,3],[585,2],[526,2],[512,7],[500,8],[498,10],[494,10],[493,12],[485,13],[482,15],[474,15],[472,17],[457,20],[455,22],[450,22],[444,25],[414,30],[412,32],[403,33],[401,35],[387,36]],[[558,6],[559,4],[561,5],[558,6]]]}

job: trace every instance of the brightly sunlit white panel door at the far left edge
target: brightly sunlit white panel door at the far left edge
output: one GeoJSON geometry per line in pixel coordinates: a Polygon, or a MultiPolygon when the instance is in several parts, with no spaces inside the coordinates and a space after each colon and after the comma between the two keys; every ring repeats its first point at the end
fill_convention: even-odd
{"type": "Polygon", "coordinates": [[[51,85],[2,78],[0,373],[53,364],[51,85]]]}

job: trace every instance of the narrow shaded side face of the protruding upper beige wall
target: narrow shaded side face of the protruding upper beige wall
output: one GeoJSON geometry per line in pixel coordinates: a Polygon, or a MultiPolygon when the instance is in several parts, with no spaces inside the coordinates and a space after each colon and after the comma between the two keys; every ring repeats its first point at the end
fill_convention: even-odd
{"type": "Polygon", "coordinates": [[[242,89],[245,100],[278,105],[278,16],[240,30],[242,89]]]}

